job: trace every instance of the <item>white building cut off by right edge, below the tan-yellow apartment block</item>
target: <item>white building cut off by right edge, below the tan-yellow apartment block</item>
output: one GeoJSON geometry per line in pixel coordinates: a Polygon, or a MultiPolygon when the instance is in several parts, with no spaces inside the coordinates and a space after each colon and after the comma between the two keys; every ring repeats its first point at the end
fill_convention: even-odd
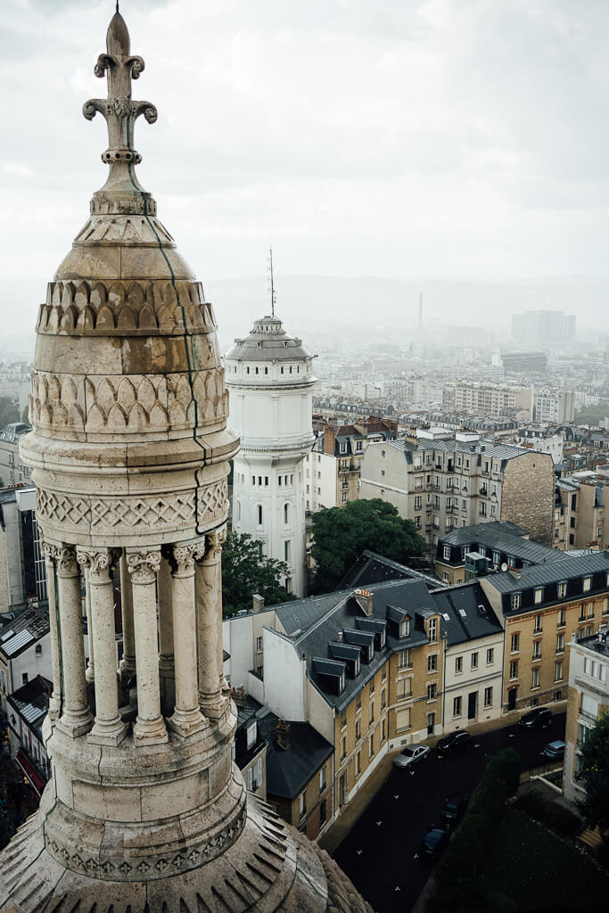
{"type": "Polygon", "coordinates": [[[569,692],[565,728],[562,790],[572,802],[581,801],[581,749],[599,717],[609,712],[609,640],[606,625],[598,634],[572,638],[569,651],[569,692]]]}

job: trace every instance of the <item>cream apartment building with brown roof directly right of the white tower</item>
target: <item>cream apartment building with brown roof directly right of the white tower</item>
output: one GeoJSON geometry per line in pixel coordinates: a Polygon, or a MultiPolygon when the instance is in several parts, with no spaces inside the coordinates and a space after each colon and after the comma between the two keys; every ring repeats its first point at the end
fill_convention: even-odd
{"type": "Polygon", "coordinates": [[[391,440],[396,433],[397,424],[389,419],[325,425],[305,460],[305,508],[335,508],[357,500],[367,447],[391,440]]]}

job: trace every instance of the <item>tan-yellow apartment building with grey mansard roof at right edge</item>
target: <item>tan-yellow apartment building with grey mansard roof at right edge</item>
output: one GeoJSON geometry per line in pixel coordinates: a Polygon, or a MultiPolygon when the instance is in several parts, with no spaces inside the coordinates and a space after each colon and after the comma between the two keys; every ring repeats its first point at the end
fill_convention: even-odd
{"type": "Polygon", "coordinates": [[[609,553],[548,561],[479,580],[505,625],[503,709],[567,698],[572,635],[609,621],[609,553]]]}

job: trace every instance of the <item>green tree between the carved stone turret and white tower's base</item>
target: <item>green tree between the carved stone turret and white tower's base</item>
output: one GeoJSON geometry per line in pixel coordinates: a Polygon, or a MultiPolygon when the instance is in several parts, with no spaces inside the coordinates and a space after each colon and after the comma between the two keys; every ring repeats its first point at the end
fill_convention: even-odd
{"type": "Polygon", "coordinates": [[[264,596],[267,605],[286,603],[295,597],[282,579],[289,575],[286,561],[262,554],[262,542],[247,533],[229,532],[222,549],[222,596],[224,614],[250,609],[252,596],[264,596]]]}

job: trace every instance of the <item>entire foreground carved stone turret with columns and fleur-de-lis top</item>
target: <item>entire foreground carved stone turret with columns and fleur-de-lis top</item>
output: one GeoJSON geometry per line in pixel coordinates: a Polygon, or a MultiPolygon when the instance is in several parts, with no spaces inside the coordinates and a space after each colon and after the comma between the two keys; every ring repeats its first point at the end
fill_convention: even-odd
{"type": "Polygon", "coordinates": [[[220,561],[238,440],[213,311],[135,177],[133,124],[156,110],[131,99],[144,64],[118,12],[107,48],[108,98],[84,114],[108,123],[110,173],[38,313],[23,458],[47,561],[52,774],[0,855],[0,908],[363,911],[231,761],[220,561]]]}

